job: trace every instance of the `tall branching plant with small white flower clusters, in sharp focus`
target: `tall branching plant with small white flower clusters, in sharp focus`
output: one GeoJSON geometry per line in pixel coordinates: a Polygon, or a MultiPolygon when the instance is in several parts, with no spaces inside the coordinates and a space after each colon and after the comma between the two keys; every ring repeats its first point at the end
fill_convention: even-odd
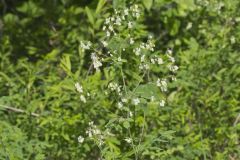
{"type": "MultiPolygon", "coordinates": [[[[144,27],[141,14],[138,5],[115,9],[103,23],[99,43],[80,42],[81,52],[91,59],[88,75],[101,74],[106,79],[105,73],[114,73],[100,89],[112,103],[113,118],[101,128],[90,121],[78,137],[80,144],[94,141],[104,159],[140,157],[149,132],[146,110],[149,105],[164,107],[168,84],[176,80],[178,66],[172,50],[155,50],[153,36],[140,32],[144,27]]],[[[97,89],[85,91],[81,82],[76,82],[75,88],[84,104],[94,99],[97,89]]]]}

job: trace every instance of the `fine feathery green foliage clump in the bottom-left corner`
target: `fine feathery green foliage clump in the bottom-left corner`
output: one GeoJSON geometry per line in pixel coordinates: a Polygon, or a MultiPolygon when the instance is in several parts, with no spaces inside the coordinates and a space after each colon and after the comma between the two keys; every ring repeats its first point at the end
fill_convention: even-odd
{"type": "Polygon", "coordinates": [[[45,143],[36,139],[29,141],[19,128],[6,122],[0,122],[0,132],[0,159],[45,159],[43,153],[45,143]]]}

